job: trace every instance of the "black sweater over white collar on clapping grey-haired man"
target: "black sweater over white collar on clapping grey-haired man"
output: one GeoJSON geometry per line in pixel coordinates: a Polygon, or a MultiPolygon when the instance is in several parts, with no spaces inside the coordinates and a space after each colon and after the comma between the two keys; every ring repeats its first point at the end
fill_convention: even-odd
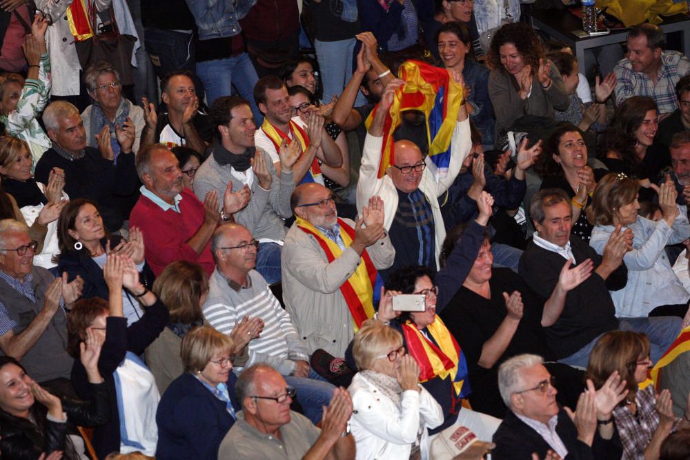
{"type": "MultiPolygon", "coordinates": [[[[594,270],[600,266],[602,256],[582,239],[571,236],[570,243],[577,263],[592,259],[594,270]]],[[[520,257],[520,276],[545,301],[551,297],[565,263],[560,254],[530,241],[520,257]]],[[[580,286],[566,294],[560,317],[553,326],[544,328],[546,344],[556,359],[569,357],[604,332],[618,329],[609,290],[622,289],[627,281],[628,270],[622,263],[606,281],[593,271],[580,286]]]]}

